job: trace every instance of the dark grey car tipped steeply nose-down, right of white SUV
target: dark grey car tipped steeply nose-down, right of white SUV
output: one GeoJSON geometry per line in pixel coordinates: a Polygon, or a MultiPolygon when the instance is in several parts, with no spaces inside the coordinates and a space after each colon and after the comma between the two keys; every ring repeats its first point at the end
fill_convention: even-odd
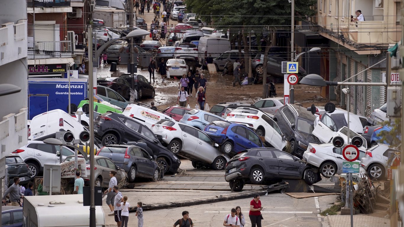
{"type": "Polygon", "coordinates": [[[312,134],[316,116],[307,108],[286,104],[275,111],[274,121],[290,142],[292,153],[299,158],[307,150],[309,143],[320,144],[320,140],[312,134]]]}

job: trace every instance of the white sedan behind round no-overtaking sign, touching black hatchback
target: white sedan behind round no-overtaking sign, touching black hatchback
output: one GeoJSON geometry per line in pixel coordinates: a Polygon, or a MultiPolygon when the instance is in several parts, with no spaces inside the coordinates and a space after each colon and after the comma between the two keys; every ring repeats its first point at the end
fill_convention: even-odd
{"type": "MultiPolygon", "coordinates": [[[[309,164],[320,168],[320,173],[324,177],[334,176],[342,173],[342,165],[346,160],[342,156],[343,148],[336,148],[332,143],[315,144],[309,143],[307,150],[303,153],[303,159],[309,164]]],[[[365,156],[366,150],[359,148],[359,158],[355,162],[365,156]]]]}

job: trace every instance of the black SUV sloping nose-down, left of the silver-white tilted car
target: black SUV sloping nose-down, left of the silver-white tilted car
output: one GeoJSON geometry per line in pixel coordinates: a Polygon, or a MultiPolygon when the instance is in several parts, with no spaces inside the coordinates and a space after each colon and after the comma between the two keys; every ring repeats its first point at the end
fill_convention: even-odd
{"type": "Polygon", "coordinates": [[[165,172],[177,172],[181,161],[166,147],[161,145],[153,132],[141,122],[120,113],[103,113],[94,120],[95,137],[103,146],[128,144],[130,141],[143,142],[151,149],[156,161],[165,172]]]}

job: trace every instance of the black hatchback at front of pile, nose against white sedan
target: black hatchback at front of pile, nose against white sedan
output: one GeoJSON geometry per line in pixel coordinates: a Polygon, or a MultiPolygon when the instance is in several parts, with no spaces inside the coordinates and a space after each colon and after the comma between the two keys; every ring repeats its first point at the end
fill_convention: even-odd
{"type": "Polygon", "coordinates": [[[234,191],[241,191],[246,183],[262,185],[282,179],[304,179],[309,185],[321,181],[316,167],[275,148],[248,149],[226,164],[225,180],[234,191]]]}

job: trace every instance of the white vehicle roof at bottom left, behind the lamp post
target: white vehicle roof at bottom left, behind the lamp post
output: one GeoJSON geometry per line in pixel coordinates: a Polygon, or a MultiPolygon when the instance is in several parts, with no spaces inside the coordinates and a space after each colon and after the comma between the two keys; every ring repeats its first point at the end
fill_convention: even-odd
{"type": "MultiPolygon", "coordinates": [[[[90,207],[83,195],[42,195],[24,197],[24,225],[35,227],[88,227],[90,207]],[[53,204],[62,202],[62,204],[53,204]]],[[[95,206],[95,226],[105,226],[102,206],[95,206]]]]}

